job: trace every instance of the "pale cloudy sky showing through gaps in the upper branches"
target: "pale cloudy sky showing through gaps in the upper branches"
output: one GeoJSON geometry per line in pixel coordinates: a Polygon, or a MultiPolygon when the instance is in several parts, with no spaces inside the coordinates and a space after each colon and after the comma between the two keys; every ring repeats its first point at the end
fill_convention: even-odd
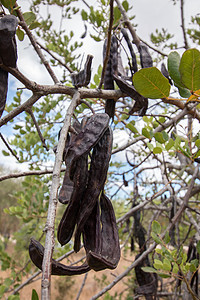
{"type": "MultiPolygon", "coordinates": [[[[172,0],[134,0],[129,1],[132,3],[132,12],[135,14],[135,19],[133,20],[134,24],[137,24],[137,34],[143,40],[150,43],[150,33],[154,32],[158,28],[168,29],[168,32],[174,34],[174,41],[179,42],[180,45],[183,44],[183,34],[180,26],[180,0],[177,2],[177,5],[173,5],[172,0]]],[[[97,5],[97,1],[88,0],[90,5],[94,7],[97,5]]],[[[21,5],[23,11],[27,11],[29,6],[29,0],[19,0],[18,4],[21,5]]],[[[84,8],[87,10],[87,7],[83,2],[79,6],[81,9],[84,8]]],[[[44,10],[46,13],[46,8],[44,10]]],[[[185,24],[186,27],[190,26],[191,16],[200,13],[200,2],[199,0],[185,0],[185,24]]],[[[59,26],[59,18],[56,15],[56,24],[59,26]]],[[[66,27],[69,30],[74,30],[77,34],[77,37],[80,37],[84,32],[84,26],[80,22],[80,18],[76,17],[70,21],[66,20],[66,27]]],[[[94,55],[93,59],[93,73],[96,71],[98,65],[102,63],[102,44],[95,43],[89,36],[83,40],[85,43],[82,51],[85,54],[94,55]]],[[[40,84],[52,84],[51,78],[47,74],[45,68],[40,64],[40,61],[35,54],[32,47],[29,46],[29,41],[27,38],[23,42],[17,41],[18,44],[18,68],[31,80],[36,81],[40,84]]],[[[61,69],[56,70],[56,75],[59,78],[61,75],[61,69]]],[[[8,93],[8,103],[12,101],[13,93],[16,91],[16,88],[19,87],[19,82],[13,80],[12,76],[9,77],[9,93],[8,93]]],[[[26,99],[24,99],[26,100],[26,99]]],[[[12,135],[12,131],[8,130],[7,127],[2,127],[1,132],[5,136],[12,135]]],[[[123,139],[121,139],[123,140],[123,139]]],[[[1,154],[1,150],[6,150],[2,141],[0,140],[0,162],[4,162],[5,166],[8,168],[20,168],[26,169],[27,166],[19,166],[16,164],[14,157],[6,158],[1,154]]],[[[7,150],[6,150],[7,151],[7,150]]]]}

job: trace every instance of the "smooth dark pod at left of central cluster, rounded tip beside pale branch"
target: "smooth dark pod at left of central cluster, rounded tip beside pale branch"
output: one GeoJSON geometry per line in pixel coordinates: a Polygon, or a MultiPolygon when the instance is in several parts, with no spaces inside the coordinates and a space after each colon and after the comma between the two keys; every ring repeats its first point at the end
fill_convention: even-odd
{"type": "Polygon", "coordinates": [[[76,162],[76,169],[73,177],[73,191],[69,204],[58,226],[57,238],[61,245],[67,244],[74,232],[77,212],[79,211],[81,199],[87,186],[87,179],[88,161],[87,155],[83,155],[76,162]]]}

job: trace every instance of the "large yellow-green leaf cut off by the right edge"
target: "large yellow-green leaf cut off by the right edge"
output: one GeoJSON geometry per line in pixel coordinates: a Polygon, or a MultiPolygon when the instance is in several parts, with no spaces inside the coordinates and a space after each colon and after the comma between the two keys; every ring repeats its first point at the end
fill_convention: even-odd
{"type": "Polygon", "coordinates": [[[186,50],[181,58],[179,71],[181,81],[191,91],[200,89],[200,52],[197,49],[186,50]]]}

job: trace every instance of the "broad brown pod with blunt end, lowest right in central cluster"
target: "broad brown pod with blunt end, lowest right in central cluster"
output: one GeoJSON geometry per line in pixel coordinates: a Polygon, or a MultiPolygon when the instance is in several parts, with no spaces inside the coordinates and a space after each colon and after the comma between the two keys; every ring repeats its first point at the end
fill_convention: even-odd
{"type": "MultiPolygon", "coordinates": [[[[87,249],[87,263],[91,269],[100,271],[103,269],[115,269],[120,260],[120,245],[118,229],[115,219],[115,213],[112,203],[108,197],[102,192],[100,198],[101,206],[101,231],[98,233],[99,242],[95,250],[87,249]]],[[[87,223],[86,223],[87,225],[87,223]]],[[[86,227],[84,230],[84,243],[87,247],[90,237],[88,236],[88,230],[86,227]],[[87,230],[87,231],[86,231],[87,230]]]]}

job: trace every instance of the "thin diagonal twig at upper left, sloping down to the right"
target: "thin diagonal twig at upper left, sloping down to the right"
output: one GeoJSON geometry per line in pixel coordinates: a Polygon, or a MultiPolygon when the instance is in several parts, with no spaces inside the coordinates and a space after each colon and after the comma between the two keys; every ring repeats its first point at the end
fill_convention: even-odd
{"type": "MultiPolygon", "coordinates": [[[[17,3],[16,3],[16,6],[17,3]]],[[[57,79],[56,75],[54,74],[53,70],[51,69],[48,61],[45,59],[42,51],[40,50],[40,48],[38,47],[38,44],[37,44],[37,41],[35,39],[35,37],[33,36],[32,32],[30,31],[30,29],[28,28],[25,20],[24,20],[24,17],[23,17],[23,14],[20,10],[20,8],[18,8],[16,10],[17,12],[17,15],[18,15],[18,18],[20,19],[20,25],[22,26],[22,28],[24,29],[24,31],[26,32],[26,34],[28,35],[29,37],[29,40],[31,42],[31,44],[33,45],[33,48],[35,49],[36,53],[38,54],[39,58],[41,59],[42,63],[44,64],[45,68],[47,69],[49,75],[51,76],[51,78],[53,79],[53,82],[55,84],[59,83],[59,80],[57,79]]]]}

